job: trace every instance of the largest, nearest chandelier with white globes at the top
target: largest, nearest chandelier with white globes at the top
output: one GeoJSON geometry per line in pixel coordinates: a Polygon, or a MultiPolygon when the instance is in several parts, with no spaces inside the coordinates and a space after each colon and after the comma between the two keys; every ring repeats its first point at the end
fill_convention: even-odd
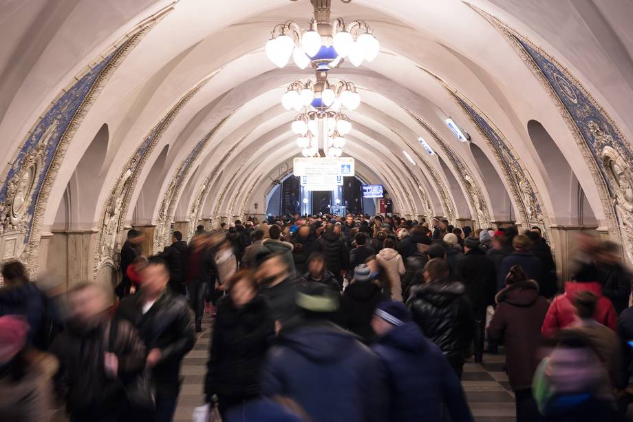
{"type": "MultiPolygon", "coordinates": [[[[272,29],[266,43],[266,56],[277,67],[288,64],[290,56],[301,69],[312,64],[317,70],[328,71],[339,66],[345,58],[358,67],[363,61],[373,61],[380,51],[380,43],[365,21],[345,23],[342,18],[330,22],[331,0],[311,0],[314,18],[308,29],[293,21],[280,23],[272,29]]],[[[349,3],[344,1],[343,3],[349,3]]]]}

